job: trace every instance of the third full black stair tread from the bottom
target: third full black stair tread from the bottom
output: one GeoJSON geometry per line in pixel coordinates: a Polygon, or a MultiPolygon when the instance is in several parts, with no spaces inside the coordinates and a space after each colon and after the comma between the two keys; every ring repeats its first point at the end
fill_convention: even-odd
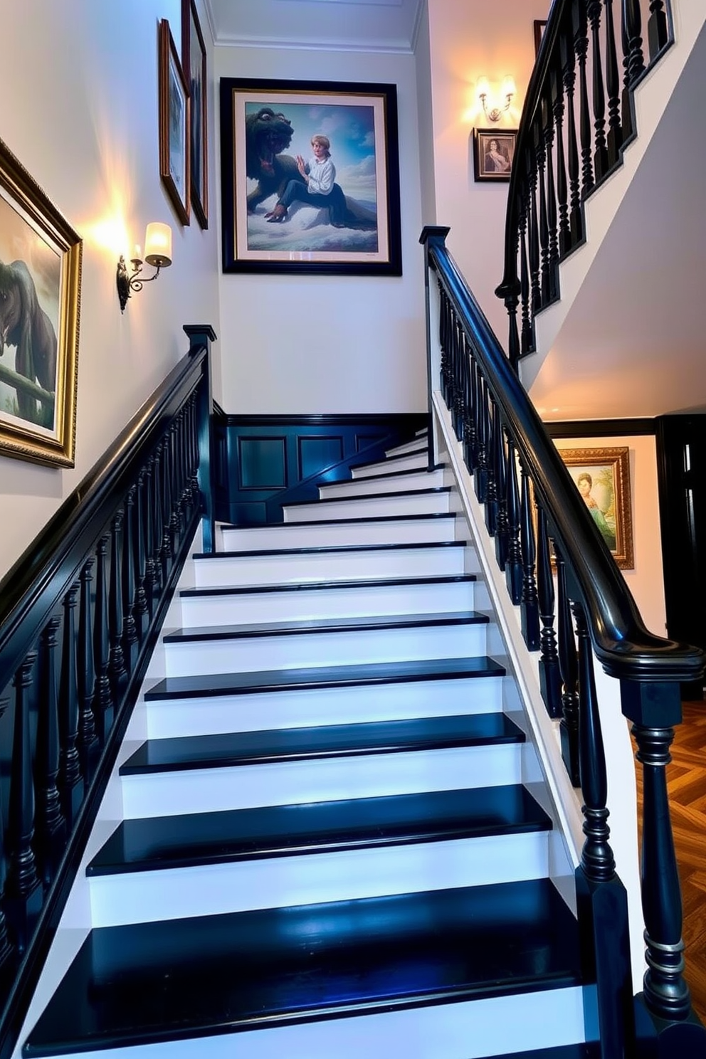
{"type": "Polygon", "coordinates": [[[130,775],[522,741],[522,731],[502,713],[320,724],[147,739],[123,762],[120,772],[130,775]]]}

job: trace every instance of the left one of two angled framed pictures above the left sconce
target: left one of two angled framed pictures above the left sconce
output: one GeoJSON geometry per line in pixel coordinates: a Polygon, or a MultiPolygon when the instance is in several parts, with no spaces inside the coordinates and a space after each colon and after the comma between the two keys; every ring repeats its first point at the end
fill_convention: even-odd
{"type": "Polygon", "coordinates": [[[179,220],[188,225],[191,143],[188,89],[169,30],[159,28],[160,176],[179,220]]]}

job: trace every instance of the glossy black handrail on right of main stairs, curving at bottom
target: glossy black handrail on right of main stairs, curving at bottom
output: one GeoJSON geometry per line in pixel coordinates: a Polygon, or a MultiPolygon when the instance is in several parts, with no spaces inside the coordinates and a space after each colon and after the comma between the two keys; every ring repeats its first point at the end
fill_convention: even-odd
{"type": "MultiPolygon", "coordinates": [[[[560,0],[557,0],[560,2],[560,0]]],[[[427,239],[430,264],[473,340],[486,384],[526,467],[557,544],[586,608],[596,657],[612,677],[635,681],[689,682],[706,665],[699,648],[651,633],[595,526],[559,451],[438,236],[427,239]]]]}

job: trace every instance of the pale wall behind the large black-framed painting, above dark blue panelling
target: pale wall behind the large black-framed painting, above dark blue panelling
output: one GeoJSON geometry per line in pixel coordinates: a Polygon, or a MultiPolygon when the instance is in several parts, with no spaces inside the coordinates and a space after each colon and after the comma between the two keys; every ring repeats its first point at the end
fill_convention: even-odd
{"type": "Polygon", "coordinates": [[[219,76],[397,85],[400,277],[220,279],[227,412],[359,414],[427,407],[415,60],[412,55],[224,47],[219,76]]]}

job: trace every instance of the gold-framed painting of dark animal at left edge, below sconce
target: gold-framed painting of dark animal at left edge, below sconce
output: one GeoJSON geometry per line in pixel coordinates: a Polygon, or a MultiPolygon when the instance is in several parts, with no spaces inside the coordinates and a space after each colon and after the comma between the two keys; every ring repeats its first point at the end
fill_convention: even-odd
{"type": "Polygon", "coordinates": [[[0,140],[0,454],[73,467],[83,243],[0,140]]]}

